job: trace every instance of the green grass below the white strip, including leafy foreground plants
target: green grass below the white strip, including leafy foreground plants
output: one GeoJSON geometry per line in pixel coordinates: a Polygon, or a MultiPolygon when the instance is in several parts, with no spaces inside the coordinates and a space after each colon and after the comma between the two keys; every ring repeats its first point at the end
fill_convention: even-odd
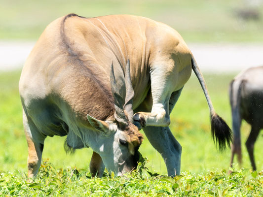
{"type": "MultiPolygon", "coordinates": [[[[48,137],[43,151],[44,161],[48,162],[42,164],[36,183],[30,185],[25,178],[27,143],[18,94],[19,75],[20,71],[0,73],[0,196],[81,196],[84,192],[87,196],[235,196],[234,192],[240,196],[263,195],[263,174],[260,172],[263,170],[263,136],[259,136],[255,145],[259,172],[252,172],[244,146],[250,127],[243,123],[245,169],[239,170],[236,165],[237,171],[228,176],[225,172],[228,170],[230,150],[224,153],[216,150],[210,133],[208,106],[194,75],[186,84],[171,115],[170,128],[183,146],[182,176],[172,179],[154,174],[166,175],[166,168],[161,156],[145,138],[139,151],[149,162],[143,164],[141,174],[134,173],[126,178],[106,175],[103,179],[90,179],[88,165],[91,149],[77,150],[73,156],[66,155],[63,149],[65,138],[48,137]]],[[[229,125],[231,117],[227,92],[233,76],[234,73],[205,75],[214,107],[229,125]]]]}

